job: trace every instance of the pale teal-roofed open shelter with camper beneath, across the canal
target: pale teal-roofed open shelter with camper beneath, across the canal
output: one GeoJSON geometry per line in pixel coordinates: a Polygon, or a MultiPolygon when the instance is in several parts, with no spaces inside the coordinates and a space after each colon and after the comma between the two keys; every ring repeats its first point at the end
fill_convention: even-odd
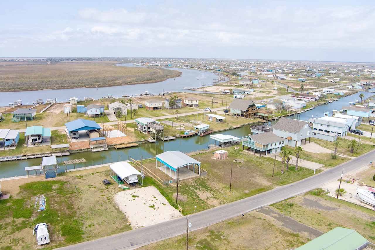
{"type": "Polygon", "coordinates": [[[43,126],[27,127],[25,141],[27,146],[51,145],[51,129],[43,128],[43,126]]]}

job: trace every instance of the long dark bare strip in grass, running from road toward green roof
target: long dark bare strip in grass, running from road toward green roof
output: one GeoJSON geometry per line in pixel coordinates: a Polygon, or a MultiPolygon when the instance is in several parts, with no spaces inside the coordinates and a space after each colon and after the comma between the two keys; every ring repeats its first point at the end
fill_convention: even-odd
{"type": "Polygon", "coordinates": [[[305,224],[299,223],[298,221],[294,220],[291,217],[282,215],[279,212],[274,211],[270,207],[264,207],[256,211],[262,214],[268,215],[272,217],[273,219],[281,222],[283,227],[286,227],[292,230],[293,232],[308,233],[309,235],[314,236],[314,238],[323,234],[319,230],[306,226],[305,224]]]}

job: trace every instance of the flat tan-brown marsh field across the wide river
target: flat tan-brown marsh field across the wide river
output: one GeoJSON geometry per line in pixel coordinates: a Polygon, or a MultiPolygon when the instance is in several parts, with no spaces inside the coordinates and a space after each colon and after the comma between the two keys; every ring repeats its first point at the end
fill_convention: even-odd
{"type": "Polygon", "coordinates": [[[0,62],[0,91],[108,87],[178,77],[162,68],[115,66],[121,62],[0,62]]]}

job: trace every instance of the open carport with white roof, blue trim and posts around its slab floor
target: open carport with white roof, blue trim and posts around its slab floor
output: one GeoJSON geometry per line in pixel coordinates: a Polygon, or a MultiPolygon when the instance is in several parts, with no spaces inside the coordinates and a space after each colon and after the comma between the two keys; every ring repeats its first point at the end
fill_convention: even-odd
{"type": "MultiPolygon", "coordinates": [[[[164,171],[166,175],[172,178],[177,178],[177,170],[181,168],[182,173],[179,173],[180,179],[186,179],[195,175],[195,167],[197,167],[198,175],[201,174],[201,163],[194,158],[184,154],[180,151],[166,151],[155,156],[156,167],[157,163],[160,163],[159,169],[164,171]],[[191,173],[190,167],[192,167],[193,173],[191,173]],[[169,174],[167,173],[167,168],[169,169],[169,174]],[[187,171],[186,171],[187,168],[187,171]],[[174,172],[174,175],[172,174],[174,172]]],[[[178,172],[181,172],[178,170],[178,172]]]]}

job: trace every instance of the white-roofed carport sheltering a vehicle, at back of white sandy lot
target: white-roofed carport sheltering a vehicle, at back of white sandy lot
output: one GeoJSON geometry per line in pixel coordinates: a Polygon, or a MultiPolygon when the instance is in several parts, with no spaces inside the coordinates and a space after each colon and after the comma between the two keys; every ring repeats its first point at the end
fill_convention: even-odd
{"type": "Polygon", "coordinates": [[[119,161],[110,165],[111,178],[118,184],[123,185],[126,182],[129,185],[135,185],[142,174],[127,162],[119,161]]]}

